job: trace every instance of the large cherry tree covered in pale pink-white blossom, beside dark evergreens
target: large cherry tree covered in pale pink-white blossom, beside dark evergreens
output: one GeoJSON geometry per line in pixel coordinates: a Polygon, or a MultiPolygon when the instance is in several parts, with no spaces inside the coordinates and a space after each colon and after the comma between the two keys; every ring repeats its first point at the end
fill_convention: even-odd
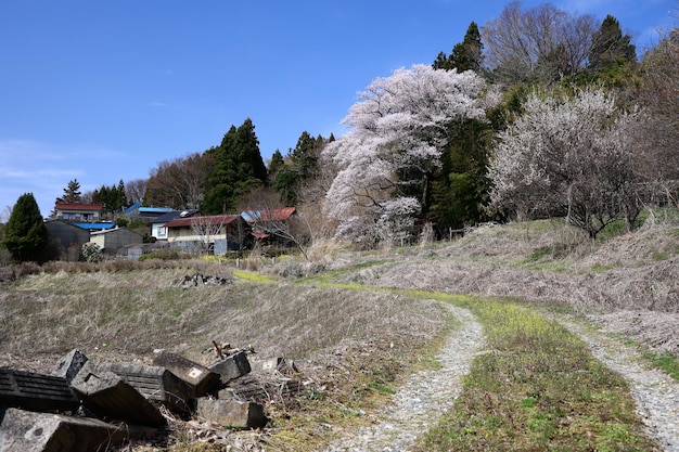
{"type": "Polygon", "coordinates": [[[453,126],[484,117],[484,89],[473,72],[414,65],[359,93],[349,131],[323,152],[338,168],[325,204],[338,236],[373,244],[408,233],[453,126]]]}

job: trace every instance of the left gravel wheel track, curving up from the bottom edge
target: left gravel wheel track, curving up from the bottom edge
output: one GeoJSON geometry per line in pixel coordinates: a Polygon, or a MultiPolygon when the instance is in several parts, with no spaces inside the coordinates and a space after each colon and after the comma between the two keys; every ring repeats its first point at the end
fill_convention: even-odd
{"type": "Polygon", "coordinates": [[[330,445],[325,452],[407,451],[418,436],[427,431],[454,402],[462,389],[461,378],[470,370],[474,354],[484,343],[482,326],[465,309],[446,305],[461,322],[437,357],[441,369],[413,375],[394,395],[393,405],[384,410],[382,421],[351,432],[330,445]]]}

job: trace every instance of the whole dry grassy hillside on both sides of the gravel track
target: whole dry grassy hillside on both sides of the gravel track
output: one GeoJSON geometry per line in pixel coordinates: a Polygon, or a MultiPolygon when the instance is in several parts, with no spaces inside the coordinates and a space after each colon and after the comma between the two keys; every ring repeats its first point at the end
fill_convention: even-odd
{"type": "MultiPolygon", "coordinates": [[[[208,364],[213,340],[252,346],[253,359],[294,360],[323,396],[274,402],[264,436],[227,438],[243,450],[310,450],[372,422],[394,388],[434,365],[433,353],[457,326],[437,296],[422,295],[428,292],[512,297],[584,314],[676,357],[678,228],[658,214],[635,232],[592,243],[560,221],[488,224],[423,246],[329,246],[310,263],[251,258],[258,270],[252,273],[203,261],[48,266],[0,286],[0,366],[49,372],[73,348],[137,363],[163,348],[208,364]],[[179,283],[195,272],[230,283],[179,283]],[[337,429],[319,436],[319,425],[337,429]]],[[[176,432],[174,450],[220,450],[197,442],[181,449],[192,435],[176,432]]]]}

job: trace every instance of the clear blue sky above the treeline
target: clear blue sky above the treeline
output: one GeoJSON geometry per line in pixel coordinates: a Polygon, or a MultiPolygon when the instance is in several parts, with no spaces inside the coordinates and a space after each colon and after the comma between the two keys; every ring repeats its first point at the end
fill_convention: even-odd
{"type": "MultiPolygon", "coordinates": [[[[509,1],[3,0],[0,220],[30,192],[49,215],[82,192],[145,179],[251,118],[266,159],[303,131],[342,135],[374,78],[450,53],[509,1]]],[[[529,8],[542,1],[523,1],[529,8]]],[[[676,0],[563,0],[614,15],[643,48],[676,0]]]]}

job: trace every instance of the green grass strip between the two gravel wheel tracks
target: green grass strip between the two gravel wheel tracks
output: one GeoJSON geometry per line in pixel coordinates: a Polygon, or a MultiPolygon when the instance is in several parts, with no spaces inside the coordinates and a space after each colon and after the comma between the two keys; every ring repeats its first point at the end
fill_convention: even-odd
{"type": "Polygon", "coordinates": [[[417,450],[657,450],[623,377],[559,323],[514,302],[458,302],[483,324],[489,351],[417,450]]]}

